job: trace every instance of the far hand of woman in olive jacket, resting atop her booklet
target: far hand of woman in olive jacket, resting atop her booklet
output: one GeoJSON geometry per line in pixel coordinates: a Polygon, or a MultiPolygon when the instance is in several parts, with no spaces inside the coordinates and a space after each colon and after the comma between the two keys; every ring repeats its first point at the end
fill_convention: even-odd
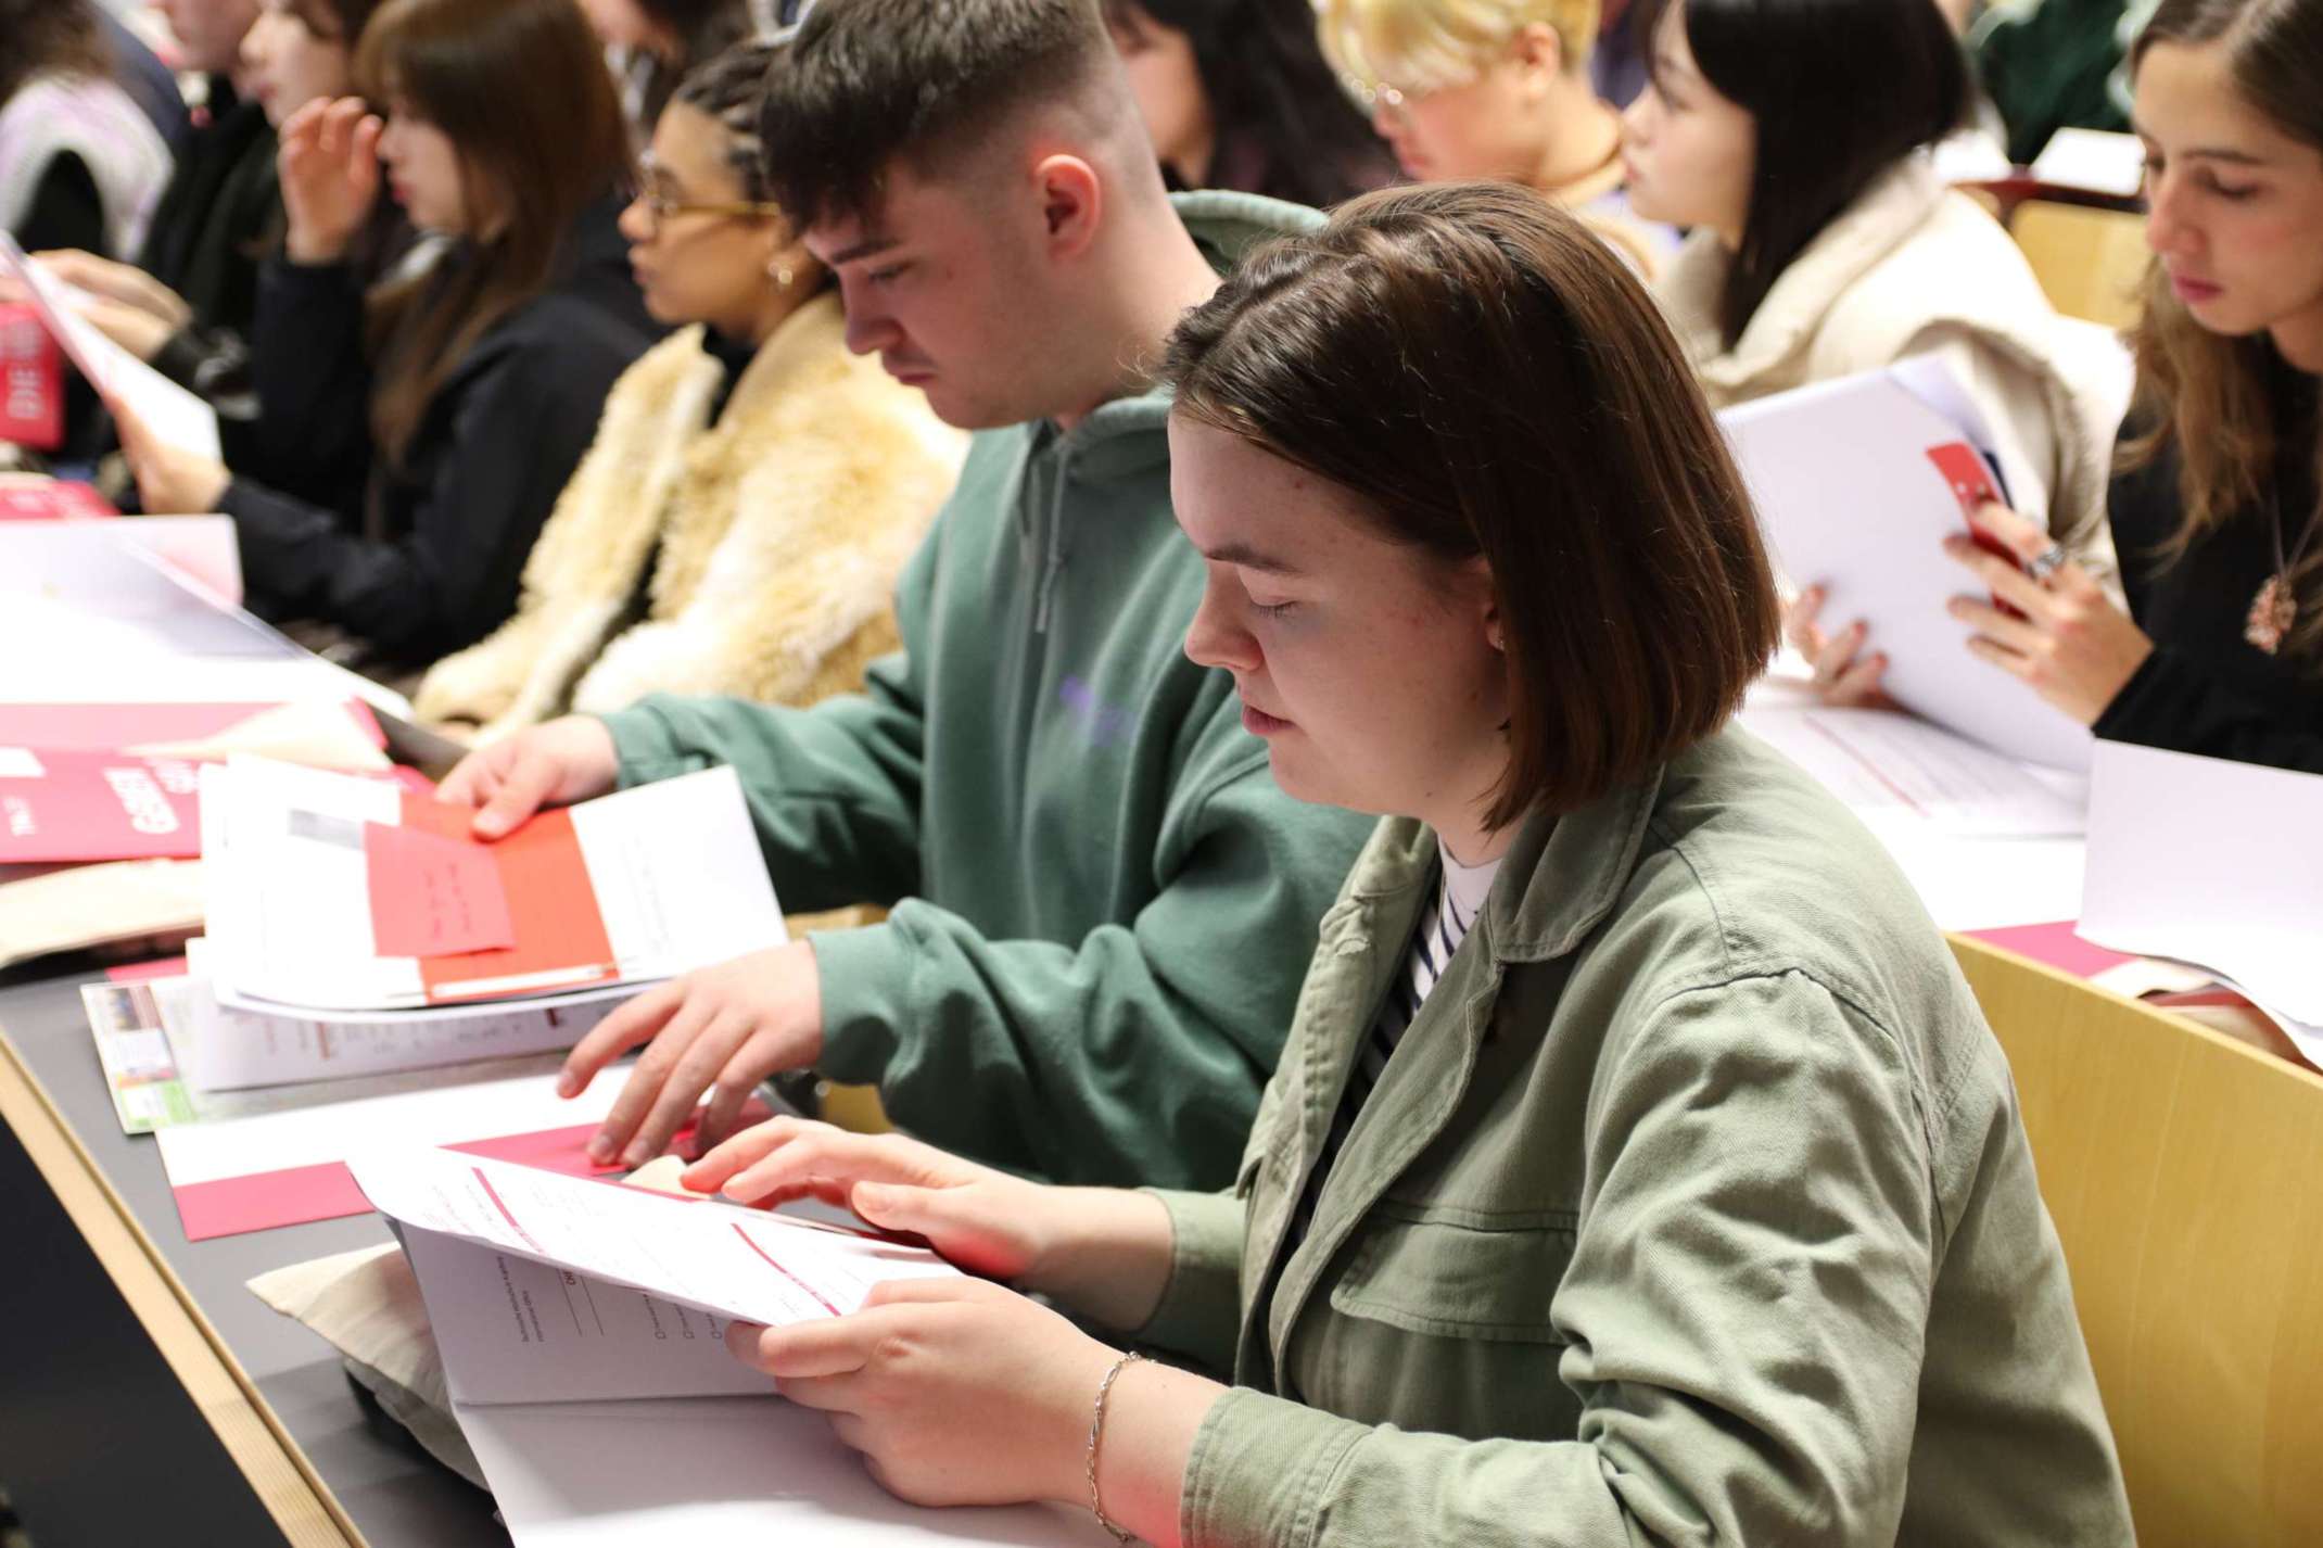
{"type": "Polygon", "coordinates": [[[971,1274],[1022,1281],[1041,1267],[1057,1188],[978,1167],[901,1134],[855,1134],[806,1118],[743,1130],[692,1167],[695,1192],[739,1204],[822,1199],[892,1232],[927,1237],[971,1274]]]}

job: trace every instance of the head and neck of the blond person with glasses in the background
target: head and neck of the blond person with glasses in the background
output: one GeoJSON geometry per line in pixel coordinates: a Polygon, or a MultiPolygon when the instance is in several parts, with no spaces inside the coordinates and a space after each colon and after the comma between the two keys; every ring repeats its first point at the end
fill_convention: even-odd
{"type": "Polygon", "coordinates": [[[1652,274],[1677,237],[1631,216],[1598,21],[1598,0],[1322,0],[1322,46],[1410,177],[1524,184],[1652,274]]]}

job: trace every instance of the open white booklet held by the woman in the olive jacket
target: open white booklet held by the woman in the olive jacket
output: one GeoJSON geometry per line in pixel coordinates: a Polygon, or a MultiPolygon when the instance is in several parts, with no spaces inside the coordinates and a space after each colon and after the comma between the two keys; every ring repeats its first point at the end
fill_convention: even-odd
{"type": "Polygon", "coordinates": [[[1045,1506],[925,1511],[725,1348],[732,1318],[853,1311],[880,1278],[957,1274],[899,1248],[446,1151],[351,1162],[397,1225],[453,1413],[518,1548],[732,1541],[1099,1546],[1045,1506]]]}

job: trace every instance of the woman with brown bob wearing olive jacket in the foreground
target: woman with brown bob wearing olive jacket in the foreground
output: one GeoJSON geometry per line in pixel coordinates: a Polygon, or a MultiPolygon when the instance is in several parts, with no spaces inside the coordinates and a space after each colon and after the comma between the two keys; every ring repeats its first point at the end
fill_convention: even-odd
{"type": "Polygon", "coordinates": [[[1726,728],[1775,588],[1619,258],[1519,188],[1368,195],[1168,377],[1187,651],[1289,793],[1398,814],[1238,1185],[776,1120],[688,1183],[1013,1288],[729,1346],[908,1499],[1124,1541],[2130,1541],[2000,1048],[1877,844],[1726,728]]]}

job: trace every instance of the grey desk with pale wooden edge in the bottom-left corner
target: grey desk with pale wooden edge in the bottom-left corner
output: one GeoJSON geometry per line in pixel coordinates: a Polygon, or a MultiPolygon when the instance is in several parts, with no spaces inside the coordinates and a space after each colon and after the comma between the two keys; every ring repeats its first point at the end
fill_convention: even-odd
{"type": "Polygon", "coordinates": [[[81,979],[0,990],[0,1483],[33,1541],[504,1546],[490,1497],[367,1416],[244,1281],[386,1239],[374,1216],[186,1241],[121,1132],[81,979]]]}

